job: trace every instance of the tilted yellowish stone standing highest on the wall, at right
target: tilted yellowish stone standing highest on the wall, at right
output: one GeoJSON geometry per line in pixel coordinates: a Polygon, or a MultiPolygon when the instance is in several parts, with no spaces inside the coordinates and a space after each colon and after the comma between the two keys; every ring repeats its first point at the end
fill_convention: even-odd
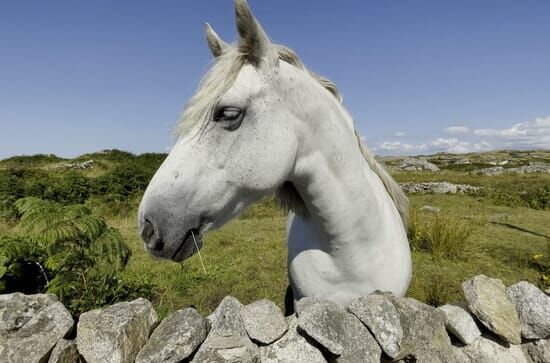
{"type": "Polygon", "coordinates": [[[487,329],[506,342],[521,344],[518,314],[502,281],[479,275],[465,281],[462,289],[468,308],[487,329]]]}

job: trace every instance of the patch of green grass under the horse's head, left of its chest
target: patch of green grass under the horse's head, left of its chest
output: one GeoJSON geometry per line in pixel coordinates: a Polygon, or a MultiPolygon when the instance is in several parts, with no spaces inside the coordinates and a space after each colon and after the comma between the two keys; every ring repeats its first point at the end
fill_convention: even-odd
{"type": "Polygon", "coordinates": [[[243,303],[267,298],[284,305],[288,286],[284,219],[235,220],[208,234],[199,258],[183,264],[153,259],[143,249],[134,217],[112,220],[132,250],[126,269],[131,277],[157,285],[154,301],[161,315],[193,305],[210,313],[226,295],[243,303]]]}

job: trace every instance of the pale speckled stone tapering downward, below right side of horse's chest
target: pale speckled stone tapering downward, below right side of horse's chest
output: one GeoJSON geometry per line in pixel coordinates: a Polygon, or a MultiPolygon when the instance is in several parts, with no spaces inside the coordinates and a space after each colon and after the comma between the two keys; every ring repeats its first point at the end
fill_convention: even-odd
{"type": "Polygon", "coordinates": [[[372,294],[352,301],[348,310],[365,324],[391,358],[401,350],[403,329],[393,303],[381,294],[372,294]]]}

